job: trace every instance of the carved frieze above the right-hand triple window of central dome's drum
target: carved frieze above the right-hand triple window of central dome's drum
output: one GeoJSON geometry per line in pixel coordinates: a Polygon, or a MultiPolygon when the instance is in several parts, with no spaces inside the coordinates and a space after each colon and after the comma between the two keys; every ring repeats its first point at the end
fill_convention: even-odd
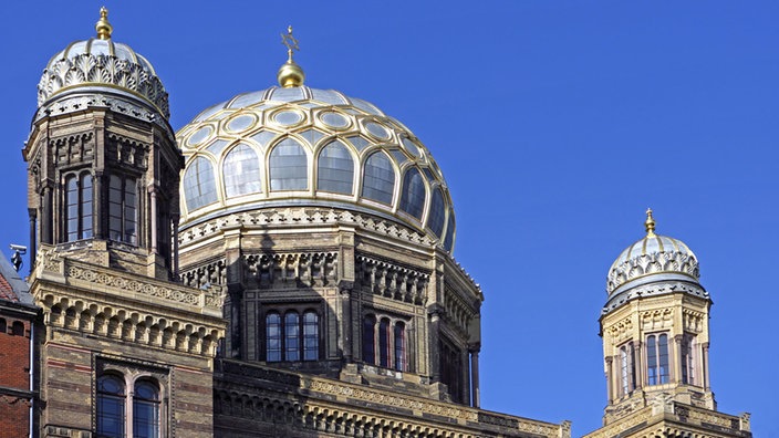
{"type": "Polygon", "coordinates": [[[355,288],[414,304],[427,301],[428,273],[366,255],[356,259],[355,288]]]}

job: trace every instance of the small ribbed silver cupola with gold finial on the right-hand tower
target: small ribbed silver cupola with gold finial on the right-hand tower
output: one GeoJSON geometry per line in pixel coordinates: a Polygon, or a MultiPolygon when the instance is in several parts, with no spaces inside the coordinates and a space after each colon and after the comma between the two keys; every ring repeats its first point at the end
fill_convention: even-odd
{"type": "Polygon", "coordinates": [[[684,290],[708,296],[698,281],[695,253],[683,241],[655,233],[652,209],[646,210],[644,227],[646,236],[622,251],[609,269],[604,313],[642,295],[684,290]]]}

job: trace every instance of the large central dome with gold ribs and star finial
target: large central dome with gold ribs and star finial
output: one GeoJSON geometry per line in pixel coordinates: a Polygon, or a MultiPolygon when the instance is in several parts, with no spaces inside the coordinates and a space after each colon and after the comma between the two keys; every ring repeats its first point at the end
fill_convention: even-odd
{"type": "Polygon", "coordinates": [[[451,251],[451,198],[427,148],[375,105],[303,85],[291,29],[282,39],[280,86],[211,106],[178,132],[183,230],[258,208],[346,208],[399,222],[451,251]]]}

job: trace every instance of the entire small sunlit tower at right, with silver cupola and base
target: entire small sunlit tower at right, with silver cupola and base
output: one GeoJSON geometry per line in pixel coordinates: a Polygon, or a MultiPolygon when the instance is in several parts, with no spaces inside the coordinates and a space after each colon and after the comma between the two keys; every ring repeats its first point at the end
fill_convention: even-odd
{"type": "Polygon", "coordinates": [[[629,429],[675,437],[712,427],[716,436],[751,436],[748,414],[716,411],[708,365],[712,299],[699,283],[698,259],[681,240],[655,233],[651,209],[645,229],[609,270],[600,317],[609,403],[604,427],[588,437],[629,429]]]}

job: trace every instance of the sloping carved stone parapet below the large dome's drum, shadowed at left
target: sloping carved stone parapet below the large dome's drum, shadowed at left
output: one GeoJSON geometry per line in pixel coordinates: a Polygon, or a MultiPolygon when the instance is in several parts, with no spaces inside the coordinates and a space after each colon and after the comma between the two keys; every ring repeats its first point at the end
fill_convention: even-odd
{"type": "Polygon", "coordinates": [[[570,438],[569,421],[554,425],[256,364],[222,361],[220,368],[217,431],[220,423],[258,429],[270,423],[285,425],[277,432],[287,436],[305,430],[364,437],[570,438]]]}

